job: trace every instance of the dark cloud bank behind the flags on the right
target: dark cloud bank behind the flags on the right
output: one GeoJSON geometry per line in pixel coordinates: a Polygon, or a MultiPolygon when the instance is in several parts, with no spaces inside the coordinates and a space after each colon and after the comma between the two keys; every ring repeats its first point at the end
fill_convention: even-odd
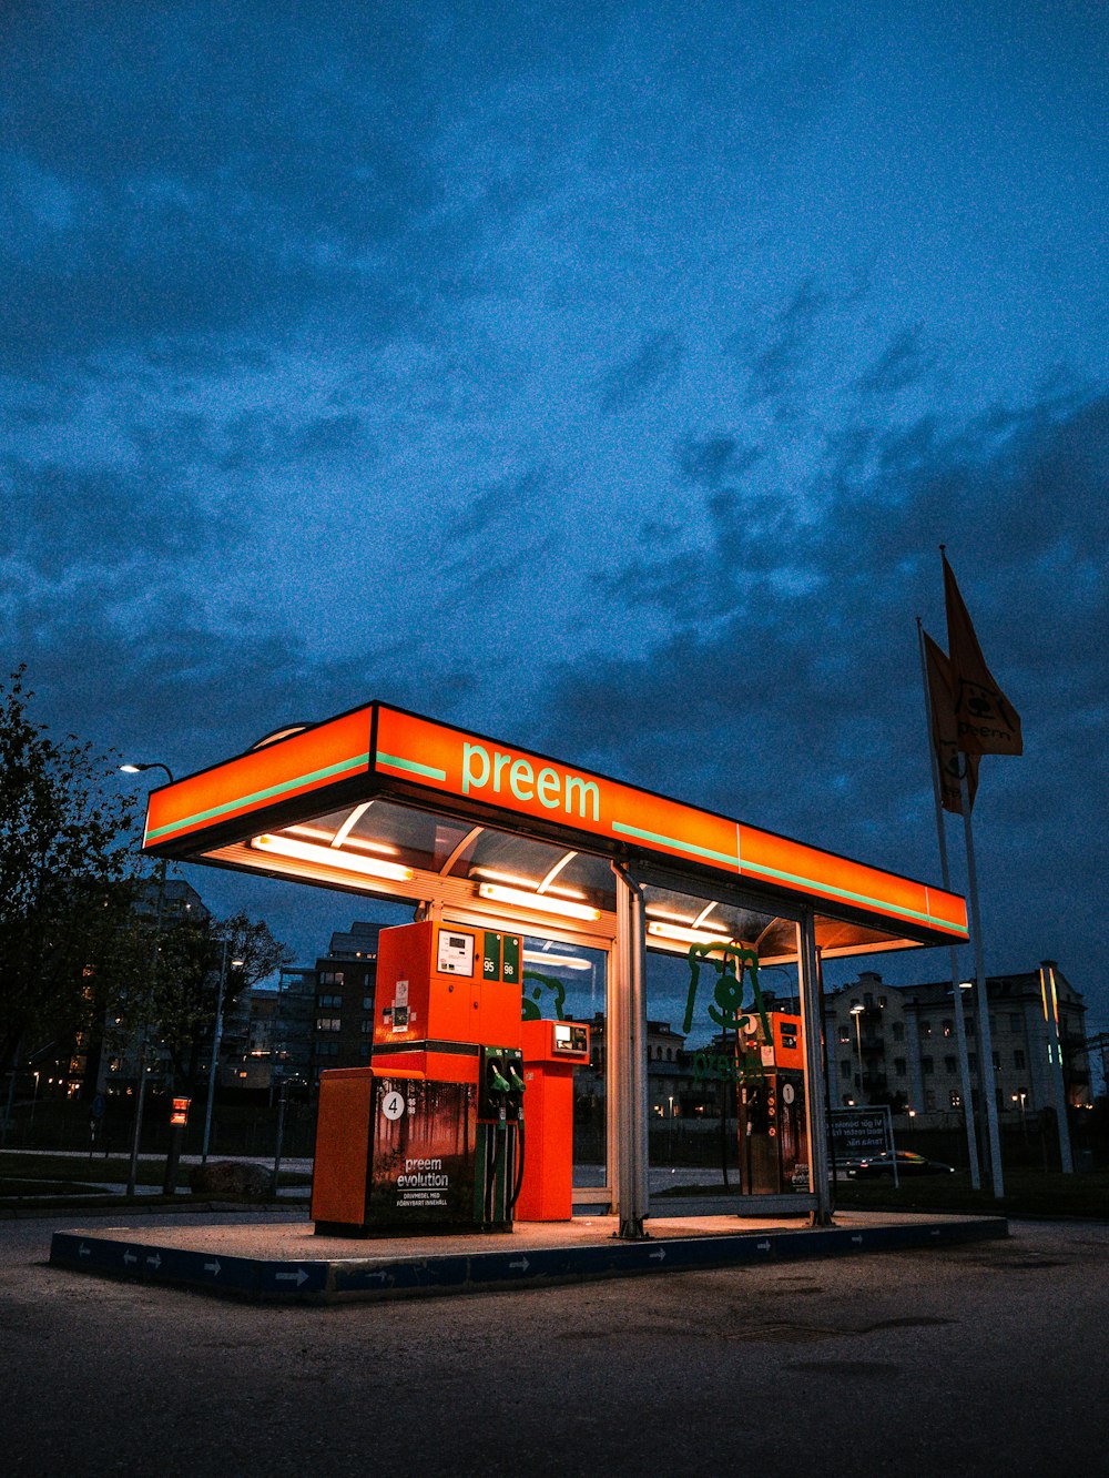
{"type": "Polygon", "coordinates": [[[539,704],[551,715],[542,743],[933,875],[914,616],[942,638],[947,537],[988,661],[1031,736],[1025,760],[985,766],[983,810],[1000,813],[992,847],[1012,884],[998,946],[1007,958],[1043,949],[1020,921],[1035,912],[1037,847],[1062,828],[1051,845],[1069,875],[1100,866],[1103,788],[1093,795],[1078,773],[1109,717],[1099,636],[1109,511],[1097,491],[1109,396],[998,412],[947,437],[917,427],[864,440],[865,469],[848,479],[830,460],[784,535],[716,517],[678,560],[631,563],[622,599],[663,605],[669,631],[638,656],[566,664],[539,704]],[[1038,817],[1035,844],[1022,807],[1038,817]]]}

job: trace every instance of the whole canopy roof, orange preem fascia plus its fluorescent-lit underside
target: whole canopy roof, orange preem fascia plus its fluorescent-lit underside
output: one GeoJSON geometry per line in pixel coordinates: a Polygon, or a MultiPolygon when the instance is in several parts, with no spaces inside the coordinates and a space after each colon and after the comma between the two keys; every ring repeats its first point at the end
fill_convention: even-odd
{"type": "Polygon", "coordinates": [[[796,959],[802,906],[824,958],[967,937],[952,893],[380,702],[154,791],[143,845],[600,937],[625,863],[651,884],[650,947],[729,939],[765,964],[796,959]]]}

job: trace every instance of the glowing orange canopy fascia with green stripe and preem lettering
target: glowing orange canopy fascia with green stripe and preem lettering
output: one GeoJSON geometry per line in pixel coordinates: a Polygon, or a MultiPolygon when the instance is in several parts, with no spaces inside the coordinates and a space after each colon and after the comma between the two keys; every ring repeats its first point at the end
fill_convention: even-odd
{"type": "MultiPolygon", "coordinates": [[[[601,856],[676,859],[880,915],[920,943],[933,941],[921,933],[967,937],[966,903],[944,888],[378,702],[266,740],[151,792],[145,847],[226,862],[217,848],[250,838],[251,851],[264,853],[266,868],[273,868],[281,851],[281,872],[307,875],[329,859],[320,859],[319,848],[307,856],[312,844],[303,838],[282,837],[276,847],[272,832],[351,800],[397,791],[411,797],[412,789],[422,792],[421,804],[434,798],[444,813],[487,819],[493,826],[515,822],[527,834],[527,822],[536,822],[535,834],[564,837],[567,847],[580,848],[592,838],[601,856]]],[[[241,856],[235,862],[247,865],[241,856]]],[[[353,866],[349,859],[344,865],[353,866]]],[[[391,876],[384,866],[375,862],[374,875],[391,876]]],[[[411,881],[411,872],[394,881],[411,881]]]]}

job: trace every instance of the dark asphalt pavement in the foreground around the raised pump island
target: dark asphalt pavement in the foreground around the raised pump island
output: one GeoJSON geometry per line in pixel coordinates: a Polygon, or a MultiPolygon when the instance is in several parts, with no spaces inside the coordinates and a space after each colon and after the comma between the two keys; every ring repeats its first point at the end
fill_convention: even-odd
{"type": "Polygon", "coordinates": [[[49,1268],[66,1224],[0,1224],[13,1478],[1105,1469],[1106,1224],[329,1308],[49,1268]]]}

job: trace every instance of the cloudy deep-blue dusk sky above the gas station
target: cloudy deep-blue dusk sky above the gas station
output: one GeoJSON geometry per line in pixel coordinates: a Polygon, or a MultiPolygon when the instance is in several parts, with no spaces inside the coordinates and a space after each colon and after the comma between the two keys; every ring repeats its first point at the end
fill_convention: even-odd
{"type": "MultiPolygon", "coordinates": [[[[7,671],[177,774],[381,698],[939,881],[945,541],[1025,732],[986,968],[1109,1026],[1108,34],[9,0],[7,671]]],[[[300,959],[377,912],[188,875],[300,959]]]]}

